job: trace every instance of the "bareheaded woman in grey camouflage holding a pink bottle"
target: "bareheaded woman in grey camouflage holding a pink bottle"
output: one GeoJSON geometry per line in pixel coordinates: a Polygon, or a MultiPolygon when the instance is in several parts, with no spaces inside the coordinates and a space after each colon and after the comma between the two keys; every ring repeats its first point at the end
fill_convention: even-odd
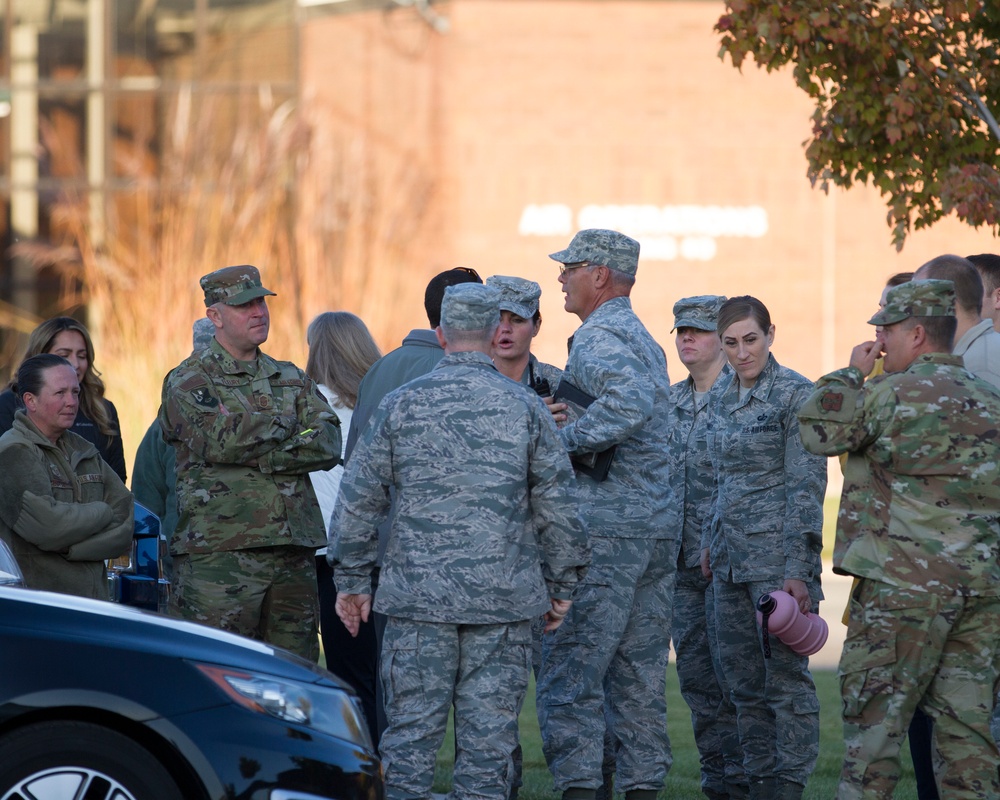
{"type": "Polygon", "coordinates": [[[760,300],[719,310],[734,375],[710,406],[716,490],[703,540],[713,574],[719,659],[736,705],[753,800],[798,800],[819,755],[819,700],[809,661],[754,623],[761,595],[784,590],[818,611],[826,462],[799,438],[796,412],[812,382],[771,354],[774,325],[760,300]]]}

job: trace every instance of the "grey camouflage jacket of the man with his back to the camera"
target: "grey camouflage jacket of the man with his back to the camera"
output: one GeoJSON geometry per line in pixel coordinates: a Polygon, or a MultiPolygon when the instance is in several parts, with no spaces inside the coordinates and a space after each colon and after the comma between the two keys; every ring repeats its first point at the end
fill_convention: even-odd
{"type": "Polygon", "coordinates": [[[482,353],[447,355],[390,393],[362,434],[331,526],[342,592],[370,593],[390,487],[382,614],[456,625],[529,619],[550,597],[568,599],[589,562],[551,414],[482,353]]]}

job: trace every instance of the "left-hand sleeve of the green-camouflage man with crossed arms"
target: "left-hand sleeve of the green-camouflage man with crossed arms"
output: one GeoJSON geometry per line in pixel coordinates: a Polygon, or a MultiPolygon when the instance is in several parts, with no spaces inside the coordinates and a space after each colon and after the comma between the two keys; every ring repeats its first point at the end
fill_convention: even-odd
{"type": "Polygon", "coordinates": [[[261,458],[296,435],[291,416],[228,409],[201,370],[179,368],[163,381],[159,421],[167,442],[182,442],[209,464],[257,466],[261,458]]]}

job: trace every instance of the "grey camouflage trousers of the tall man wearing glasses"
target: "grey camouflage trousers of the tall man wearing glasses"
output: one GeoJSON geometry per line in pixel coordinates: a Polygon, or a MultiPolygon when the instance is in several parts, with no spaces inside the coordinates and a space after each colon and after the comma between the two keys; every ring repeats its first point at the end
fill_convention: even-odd
{"type": "Polygon", "coordinates": [[[676,543],[592,536],[590,545],[569,615],[543,641],[542,749],[557,791],[600,787],[607,713],[617,790],[659,790],[671,764],[665,691],[676,543]]]}

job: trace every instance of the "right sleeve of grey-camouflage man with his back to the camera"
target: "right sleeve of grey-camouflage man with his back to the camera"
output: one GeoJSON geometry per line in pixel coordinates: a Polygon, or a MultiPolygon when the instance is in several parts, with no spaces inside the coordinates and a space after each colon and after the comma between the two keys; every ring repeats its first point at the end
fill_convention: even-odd
{"type": "Polygon", "coordinates": [[[576,502],[573,467],[547,409],[539,409],[533,426],[528,498],[543,576],[550,597],[568,600],[590,564],[587,531],[576,502]]]}

